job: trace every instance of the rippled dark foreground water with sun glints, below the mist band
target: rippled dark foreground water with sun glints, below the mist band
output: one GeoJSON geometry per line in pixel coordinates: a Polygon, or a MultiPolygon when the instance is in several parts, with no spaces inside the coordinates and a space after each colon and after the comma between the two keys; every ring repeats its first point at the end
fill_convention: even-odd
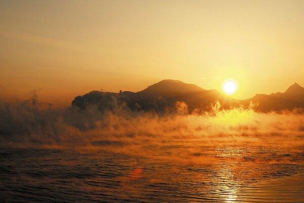
{"type": "Polygon", "coordinates": [[[2,149],[0,201],[304,202],[302,148],[197,146],[193,153],[183,148],[154,146],[151,156],[102,146],[2,149]],[[183,151],[189,157],[179,157],[183,151]]]}

